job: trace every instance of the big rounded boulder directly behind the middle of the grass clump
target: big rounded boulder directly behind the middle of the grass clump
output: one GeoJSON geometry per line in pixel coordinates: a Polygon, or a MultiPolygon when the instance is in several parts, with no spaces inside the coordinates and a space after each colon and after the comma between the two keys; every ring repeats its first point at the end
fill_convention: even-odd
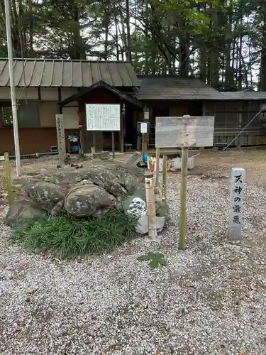
{"type": "Polygon", "coordinates": [[[74,217],[101,218],[116,207],[116,198],[89,182],[77,185],[65,198],[65,210],[74,217]]]}

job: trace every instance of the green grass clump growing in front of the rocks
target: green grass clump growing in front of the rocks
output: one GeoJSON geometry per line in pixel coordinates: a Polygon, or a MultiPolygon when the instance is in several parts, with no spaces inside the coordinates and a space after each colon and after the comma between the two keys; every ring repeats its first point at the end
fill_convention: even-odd
{"type": "Polygon", "coordinates": [[[103,253],[129,241],[137,222],[122,211],[106,214],[103,219],[74,221],[67,215],[37,219],[13,231],[14,241],[29,249],[48,251],[60,258],[103,253]]]}

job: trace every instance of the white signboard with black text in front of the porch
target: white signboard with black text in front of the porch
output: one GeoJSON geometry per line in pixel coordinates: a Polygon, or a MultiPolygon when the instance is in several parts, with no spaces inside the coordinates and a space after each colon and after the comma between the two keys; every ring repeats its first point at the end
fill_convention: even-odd
{"type": "Polygon", "coordinates": [[[87,131],[120,131],[119,104],[86,104],[87,131]]]}

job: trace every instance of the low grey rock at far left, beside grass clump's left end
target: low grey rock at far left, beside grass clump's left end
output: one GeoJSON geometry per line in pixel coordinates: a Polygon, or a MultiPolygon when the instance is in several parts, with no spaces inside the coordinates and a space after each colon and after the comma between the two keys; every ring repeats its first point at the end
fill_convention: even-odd
{"type": "Polygon", "coordinates": [[[17,224],[25,224],[31,222],[33,219],[45,217],[46,213],[38,206],[30,204],[26,200],[14,201],[9,212],[6,214],[5,223],[8,226],[15,226],[17,224]]]}

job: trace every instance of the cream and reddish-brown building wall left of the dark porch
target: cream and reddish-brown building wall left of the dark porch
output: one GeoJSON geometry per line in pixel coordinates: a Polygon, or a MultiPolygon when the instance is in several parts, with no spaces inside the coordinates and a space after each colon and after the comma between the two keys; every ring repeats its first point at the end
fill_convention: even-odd
{"type": "MultiPolygon", "coordinates": [[[[76,93],[76,89],[61,89],[62,99],[76,93]]],[[[48,153],[51,146],[57,146],[55,129],[55,114],[60,113],[58,88],[18,88],[18,126],[21,154],[48,153]],[[38,100],[38,97],[42,100],[38,100]],[[27,101],[26,101],[27,100],[27,101]]],[[[78,129],[77,102],[72,107],[65,108],[66,130],[65,136],[75,134],[78,129]],[[73,107],[76,106],[76,107],[73,107]]],[[[9,87],[0,87],[0,109],[11,107],[9,87]]],[[[0,154],[15,151],[13,143],[13,128],[4,126],[0,111],[0,154]]]]}

